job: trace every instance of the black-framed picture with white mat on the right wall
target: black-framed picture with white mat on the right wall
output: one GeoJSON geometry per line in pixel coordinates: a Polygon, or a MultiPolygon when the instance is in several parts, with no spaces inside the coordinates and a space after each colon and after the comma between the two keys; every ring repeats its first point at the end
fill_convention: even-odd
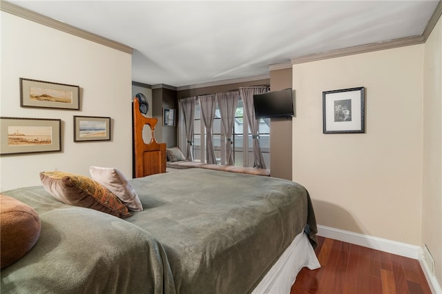
{"type": "Polygon", "coordinates": [[[365,88],[323,92],[323,133],[365,133],[365,88]]]}

